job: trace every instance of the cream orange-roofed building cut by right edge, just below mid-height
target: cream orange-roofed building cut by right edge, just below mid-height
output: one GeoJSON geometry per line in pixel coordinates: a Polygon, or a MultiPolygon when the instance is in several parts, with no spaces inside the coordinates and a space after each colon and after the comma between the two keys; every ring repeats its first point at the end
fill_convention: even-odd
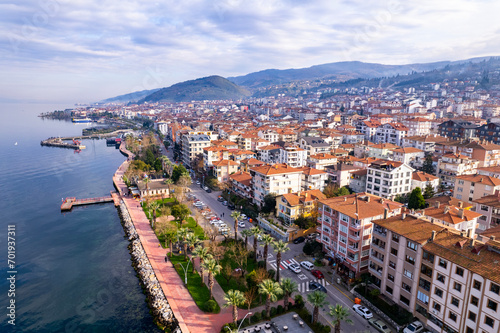
{"type": "Polygon", "coordinates": [[[500,190],[500,179],[482,175],[463,175],[455,178],[453,196],[459,200],[473,201],[500,190]]]}

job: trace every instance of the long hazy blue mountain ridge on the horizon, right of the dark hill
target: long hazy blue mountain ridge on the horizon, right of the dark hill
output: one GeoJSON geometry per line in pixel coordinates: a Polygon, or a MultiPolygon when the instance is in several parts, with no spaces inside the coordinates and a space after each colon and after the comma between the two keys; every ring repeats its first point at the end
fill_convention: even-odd
{"type": "Polygon", "coordinates": [[[261,88],[299,80],[337,79],[346,81],[356,78],[378,78],[406,75],[413,72],[431,71],[446,65],[479,62],[489,57],[461,61],[439,61],[424,64],[383,65],[360,61],[334,62],[299,69],[266,69],[243,76],[229,77],[228,80],[247,88],[261,88]]]}

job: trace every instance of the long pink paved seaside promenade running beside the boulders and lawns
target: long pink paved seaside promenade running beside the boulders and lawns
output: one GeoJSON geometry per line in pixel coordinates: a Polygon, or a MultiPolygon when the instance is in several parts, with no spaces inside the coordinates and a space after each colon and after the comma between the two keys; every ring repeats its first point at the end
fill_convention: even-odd
{"type": "MultiPolygon", "coordinates": [[[[139,203],[137,200],[123,195],[127,192],[127,186],[123,182],[122,176],[125,170],[127,170],[127,167],[128,161],[123,162],[113,176],[113,182],[128,208],[144,251],[151,262],[151,266],[155,270],[156,278],[163,289],[163,293],[175,317],[179,321],[182,332],[220,332],[222,325],[232,321],[231,309],[222,308],[223,304],[219,304],[222,308],[219,314],[206,314],[198,308],[189,294],[189,291],[184,287],[184,283],[175,271],[173,265],[170,261],[167,263],[165,262],[167,250],[160,246],[139,203]]],[[[239,310],[239,317],[243,318],[247,312],[248,311],[245,310],[239,310]]]]}

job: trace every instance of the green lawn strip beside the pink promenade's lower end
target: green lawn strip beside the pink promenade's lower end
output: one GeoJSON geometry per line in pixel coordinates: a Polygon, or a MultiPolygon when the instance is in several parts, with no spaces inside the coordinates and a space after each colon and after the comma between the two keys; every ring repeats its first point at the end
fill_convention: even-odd
{"type": "MultiPolygon", "coordinates": [[[[184,260],[184,256],[176,256],[172,255],[170,257],[170,260],[174,264],[175,270],[177,271],[177,274],[181,277],[182,281],[184,281],[184,269],[181,267],[180,264],[182,264],[184,267],[186,267],[187,261],[184,260]]],[[[191,297],[193,297],[193,300],[195,301],[196,305],[202,310],[205,311],[205,303],[210,299],[210,291],[208,290],[208,287],[202,283],[201,281],[201,276],[198,274],[197,271],[192,273],[192,262],[189,264],[188,268],[188,274],[187,274],[187,289],[189,293],[191,294],[191,297]]],[[[217,302],[216,302],[217,303],[217,302]]],[[[215,313],[220,312],[220,306],[217,304],[217,309],[215,313]]]]}

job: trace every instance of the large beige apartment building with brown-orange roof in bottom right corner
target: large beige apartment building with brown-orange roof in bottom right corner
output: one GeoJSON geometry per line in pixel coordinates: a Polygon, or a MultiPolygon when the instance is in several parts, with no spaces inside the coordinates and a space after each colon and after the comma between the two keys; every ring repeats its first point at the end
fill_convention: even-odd
{"type": "Polygon", "coordinates": [[[370,273],[381,294],[432,332],[500,331],[500,242],[405,214],[373,224],[370,273]]]}

